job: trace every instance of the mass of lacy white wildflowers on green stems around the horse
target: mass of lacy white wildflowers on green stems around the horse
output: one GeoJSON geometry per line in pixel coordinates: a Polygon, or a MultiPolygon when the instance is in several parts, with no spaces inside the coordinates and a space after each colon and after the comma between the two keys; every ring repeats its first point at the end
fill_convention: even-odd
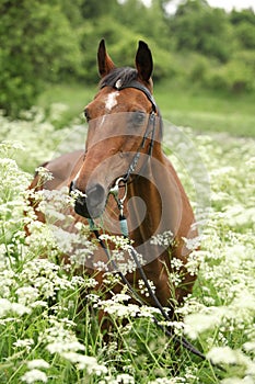
{"type": "MultiPolygon", "coordinates": [[[[201,168],[197,161],[187,166],[174,156],[190,156],[192,148],[175,143],[171,155],[197,210],[201,234],[193,241],[183,239],[190,250],[185,268],[198,275],[194,293],[176,309],[181,321],[161,324],[174,327],[179,336],[184,332],[198,342],[208,361],[223,365],[225,372],[219,379],[209,363],[197,364],[182,348],[175,353],[173,340],[152,321],[162,319],[158,309],[134,304],[127,289],[114,294],[119,275],[108,261],[95,264],[104,272],[100,275],[107,295],[100,294],[100,284],[84,274],[88,263],[95,267],[96,244],[91,241],[86,224],[73,221],[73,201],[67,190],[30,191],[28,197],[35,199],[46,217],[46,223],[36,221],[38,212],[27,205],[25,192],[32,176],[24,170],[32,171],[51,157],[59,140],[51,122],[34,111],[26,121],[9,122],[0,116],[0,123],[1,136],[8,140],[0,145],[0,381],[254,383],[254,140],[194,137],[211,180],[211,206],[204,208],[196,200],[199,196],[208,203],[206,193],[200,193],[206,191],[206,181],[199,184],[201,168]],[[26,143],[25,151],[16,143],[20,137],[26,143]],[[190,180],[194,174],[195,183],[190,180]],[[106,346],[97,310],[114,325],[106,346]],[[126,326],[124,318],[128,318],[126,326]]],[[[60,136],[67,133],[65,128],[60,136]]],[[[173,136],[166,136],[165,144],[171,146],[172,140],[173,136]]],[[[108,235],[102,239],[113,249],[111,257],[124,273],[136,269],[129,241],[108,235]]],[[[169,247],[173,235],[159,234],[151,242],[169,247]]],[[[137,257],[142,263],[142,256],[137,257]]],[[[171,278],[182,284],[182,263],[172,259],[171,267],[171,278]]],[[[148,294],[142,281],[139,290],[148,294]]]]}

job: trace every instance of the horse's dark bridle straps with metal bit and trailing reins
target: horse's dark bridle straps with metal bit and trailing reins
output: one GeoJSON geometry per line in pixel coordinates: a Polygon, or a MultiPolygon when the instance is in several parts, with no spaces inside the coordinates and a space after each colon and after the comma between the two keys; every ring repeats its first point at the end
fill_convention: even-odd
{"type": "MultiPolygon", "coordinates": [[[[127,169],[127,172],[120,177],[119,179],[116,180],[115,185],[111,189],[109,194],[114,195],[114,199],[117,203],[118,210],[119,210],[119,225],[120,225],[120,231],[121,235],[129,239],[129,230],[128,230],[128,225],[127,225],[127,219],[124,215],[124,201],[127,196],[127,184],[128,184],[128,180],[130,179],[131,173],[134,173],[135,169],[137,168],[138,165],[138,160],[140,157],[140,149],[144,148],[146,145],[146,140],[149,138],[150,134],[151,134],[151,139],[150,139],[150,145],[149,145],[149,150],[148,150],[148,156],[151,157],[152,155],[152,150],[153,150],[153,145],[154,145],[154,134],[155,134],[155,116],[157,113],[160,114],[157,104],[154,102],[154,99],[152,97],[152,94],[150,93],[150,91],[148,90],[148,88],[146,88],[144,86],[142,86],[140,82],[138,81],[131,81],[128,86],[121,87],[121,84],[119,84],[119,80],[116,82],[115,88],[118,90],[121,89],[126,89],[126,88],[136,88],[138,90],[140,90],[141,92],[143,92],[147,98],[149,99],[149,101],[152,104],[152,111],[150,112],[149,115],[149,122],[148,122],[148,126],[144,133],[144,136],[142,137],[141,144],[137,150],[137,153],[135,154],[130,166],[127,169]],[[120,183],[123,183],[123,185],[120,185],[120,183]],[[121,199],[118,199],[118,192],[119,192],[119,188],[125,187],[125,193],[124,196],[121,199]]],[[[131,181],[129,181],[131,182],[131,181]]],[[[139,302],[139,304],[141,305],[146,305],[147,303],[140,297],[140,295],[134,290],[134,287],[131,286],[131,284],[129,283],[129,281],[127,280],[127,278],[125,276],[125,274],[119,271],[117,263],[115,262],[115,260],[113,260],[113,258],[111,257],[111,252],[108,250],[108,248],[106,247],[105,242],[102,240],[102,238],[100,237],[100,233],[93,222],[92,218],[89,218],[89,224],[90,224],[90,229],[91,231],[94,233],[96,239],[98,240],[101,247],[103,248],[104,252],[107,256],[107,259],[109,261],[109,263],[112,264],[112,268],[117,271],[118,275],[120,276],[123,283],[128,287],[129,292],[131,293],[132,297],[135,297],[137,300],[137,302],[139,302]]],[[[166,321],[171,321],[171,317],[167,314],[167,312],[163,308],[163,306],[161,305],[161,303],[159,302],[157,295],[154,294],[154,292],[152,291],[147,275],[139,262],[139,259],[137,257],[137,252],[134,249],[134,247],[130,245],[130,255],[136,263],[136,267],[140,273],[140,276],[144,283],[144,286],[148,290],[148,293],[150,295],[150,297],[153,300],[154,302],[154,306],[160,310],[161,315],[163,316],[164,320],[166,321]]],[[[152,319],[154,321],[154,324],[162,329],[166,336],[171,337],[173,339],[174,342],[182,345],[185,349],[187,349],[189,352],[194,353],[195,355],[199,357],[200,359],[202,359],[204,361],[207,360],[206,355],[204,353],[201,353],[199,350],[196,349],[196,347],[194,347],[188,340],[186,340],[183,336],[177,336],[174,332],[173,326],[162,326],[162,324],[160,324],[160,321],[152,316],[152,319]]]]}

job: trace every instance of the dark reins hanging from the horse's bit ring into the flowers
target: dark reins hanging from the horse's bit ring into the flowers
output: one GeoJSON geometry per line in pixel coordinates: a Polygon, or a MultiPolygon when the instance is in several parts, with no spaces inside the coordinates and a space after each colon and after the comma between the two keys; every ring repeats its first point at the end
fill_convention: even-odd
{"type": "MultiPolygon", "coordinates": [[[[119,189],[119,183],[124,181],[123,178],[119,178],[116,183],[115,187],[111,189],[111,192],[114,195],[115,201],[117,202],[118,208],[119,208],[119,226],[120,226],[120,230],[121,230],[121,235],[125,238],[129,238],[129,231],[128,231],[128,225],[127,225],[127,218],[124,215],[124,201],[127,196],[127,184],[125,183],[125,194],[123,196],[123,199],[118,199],[118,189],[119,189]]],[[[94,225],[94,222],[92,218],[89,218],[89,224],[90,224],[90,229],[94,233],[96,239],[98,240],[101,247],[103,248],[104,252],[107,256],[108,261],[111,262],[112,267],[114,270],[117,271],[118,275],[120,276],[121,281],[124,284],[127,285],[128,290],[130,291],[131,295],[136,297],[136,300],[139,302],[139,304],[144,305],[146,303],[143,302],[143,300],[138,295],[138,293],[134,290],[134,287],[131,286],[131,284],[129,283],[129,281],[126,279],[126,276],[124,275],[124,273],[121,271],[119,271],[118,266],[116,264],[116,262],[113,260],[113,258],[111,257],[109,250],[106,247],[105,242],[100,238],[100,233],[96,229],[96,226],[94,225]]],[[[160,304],[158,297],[155,296],[154,292],[152,291],[148,279],[146,276],[146,273],[138,260],[137,257],[137,252],[135,251],[135,249],[130,246],[130,253],[131,257],[137,266],[137,269],[139,270],[139,273],[141,275],[142,281],[144,282],[144,285],[148,290],[149,295],[152,297],[154,305],[158,309],[160,309],[162,316],[164,317],[164,319],[166,321],[171,321],[171,318],[169,317],[167,313],[164,310],[164,308],[162,307],[162,305],[160,304]]],[[[207,360],[207,358],[205,357],[204,353],[201,353],[199,350],[196,349],[196,347],[194,347],[188,340],[186,340],[183,336],[177,336],[174,334],[173,327],[172,326],[167,326],[167,328],[163,327],[160,321],[152,316],[154,324],[162,329],[166,336],[171,337],[174,342],[181,343],[185,349],[187,349],[188,351],[190,351],[192,353],[194,353],[195,355],[199,357],[200,359],[202,359],[204,361],[207,360]]]]}

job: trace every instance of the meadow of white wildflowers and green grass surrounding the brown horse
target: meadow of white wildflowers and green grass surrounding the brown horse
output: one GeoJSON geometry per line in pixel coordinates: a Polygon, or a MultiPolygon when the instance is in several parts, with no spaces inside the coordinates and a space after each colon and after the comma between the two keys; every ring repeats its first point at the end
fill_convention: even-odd
{"type": "MultiPolygon", "coordinates": [[[[183,348],[175,353],[173,341],[151,321],[152,314],[161,320],[154,308],[129,304],[125,289],[105,301],[93,279],[74,274],[93,244],[86,227],[76,236],[56,236],[55,208],[72,203],[67,194],[55,195],[53,210],[46,194],[35,194],[50,216],[47,224],[35,221],[26,191],[34,169],[73,149],[72,140],[81,144],[86,131],[80,113],[95,90],[66,89],[67,100],[65,88],[56,87],[22,120],[0,116],[0,383],[255,383],[254,95],[228,100],[175,90],[171,98],[160,89],[157,95],[165,117],[165,153],[201,227],[200,250],[192,252],[188,266],[198,279],[172,326],[207,355],[201,361],[183,348]],[[79,241],[83,253],[63,266],[61,255],[79,241]],[[39,258],[45,253],[47,259],[39,258]],[[86,293],[82,308],[81,291],[86,293]],[[108,345],[97,325],[98,308],[114,324],[108,345]]],[[[109,290],[115,279],[105,276],[109,290]]]]}

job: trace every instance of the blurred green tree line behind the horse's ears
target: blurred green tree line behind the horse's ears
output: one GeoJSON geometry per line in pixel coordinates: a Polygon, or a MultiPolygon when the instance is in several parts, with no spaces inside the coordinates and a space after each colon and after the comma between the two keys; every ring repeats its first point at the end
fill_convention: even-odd
{"type": "Polygon", "coordinates": [[[0,0],[0,108],[16,116],[49,82],[95,82],[104,37],[115,61],[132,65],[138,39],[155,60],[154,79],[255,90],[255,14],[225,13],[187,0],[175,14],[167,1],[0,0]]]}

